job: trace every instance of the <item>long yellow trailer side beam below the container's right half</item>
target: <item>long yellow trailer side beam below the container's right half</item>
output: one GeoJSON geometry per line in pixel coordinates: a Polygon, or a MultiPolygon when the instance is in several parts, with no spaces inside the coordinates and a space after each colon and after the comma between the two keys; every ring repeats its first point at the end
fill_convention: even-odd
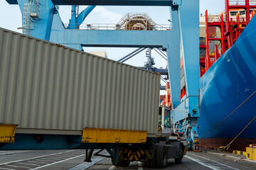
{"type": "Polygon", "coordinates": [[[145,143],[144,130],[119,130],[105,128],[85,128],[82,131],[83,143],[145,143]]]}

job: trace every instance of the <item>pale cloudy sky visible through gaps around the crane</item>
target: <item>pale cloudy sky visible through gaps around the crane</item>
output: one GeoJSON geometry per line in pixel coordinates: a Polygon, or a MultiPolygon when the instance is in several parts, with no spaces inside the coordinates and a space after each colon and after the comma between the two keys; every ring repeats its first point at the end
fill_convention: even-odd
{"type": "MultiPolygon", "coordinates": [[[[225,0],[201,0],[200,1],[200,13],[205,13],[208,9],[208,13],[221,13],[225,0]]],[[[86,6],[80,6],[80,11],[86,6]]],[[[63,23],[68,23],[70,18],[71,6],[60,6],[59,12],[63,23]]],[[[125,13],[148,13],[155,23],[169,24],[169,7],[161,6],[96,6],[95,9],[85,18],[83,23],[117,23],[125,13]]],[[[21,33],[21,11],[18,5],[9,5],[5,0],[0,0],[0,27],[9,30],[14,30],[21,33]]],[[[134,48],[105,48],[105,47],[87,47],[84,48],[86,52],[106,51],[107,56],[112,60],[118,60],[121,57],[129,54],[135,50],[134,48]]],[[[155,58],[155,67],[166,67],[166,60],[160,57],[156,52],[152,52],[152,56],[155,58]]],[[[130,60],[127,60],[127,64],[134,66],[144,66],[146,62],[145,51],[140,52],[130,60]]]]}

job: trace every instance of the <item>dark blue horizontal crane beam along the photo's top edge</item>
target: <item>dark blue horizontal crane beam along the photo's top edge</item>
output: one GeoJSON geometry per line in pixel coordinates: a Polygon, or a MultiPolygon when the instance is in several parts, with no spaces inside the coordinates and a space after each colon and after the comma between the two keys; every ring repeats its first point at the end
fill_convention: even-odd
{"type": "MultiPolygon", "coordinates": [[[[18,4],[17,0],[6,0],[9,4],[18,4]]],[[[54,5],[100,5],[100,6],[172,6],[181,4],[181,0],[52,0],[54,5]]]]}

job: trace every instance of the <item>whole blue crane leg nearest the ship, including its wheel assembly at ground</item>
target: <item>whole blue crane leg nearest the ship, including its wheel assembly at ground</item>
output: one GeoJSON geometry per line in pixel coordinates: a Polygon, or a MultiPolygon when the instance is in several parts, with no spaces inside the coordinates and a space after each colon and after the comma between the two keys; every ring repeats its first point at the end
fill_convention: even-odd
{"type": "Polygon", "coordinates": [[[175,121],[179,121],[188,130],[188,141],[195,149],[194,140],[198,138],[199,118],[199,0],[182,1],[178,8],[178,20],[181,33],[181,52],[183,59],[184,77],[186,83],[186,98],[177,110],[186,111],[186,121],[182,120],[184,113],[178,113],[175,121]]]}

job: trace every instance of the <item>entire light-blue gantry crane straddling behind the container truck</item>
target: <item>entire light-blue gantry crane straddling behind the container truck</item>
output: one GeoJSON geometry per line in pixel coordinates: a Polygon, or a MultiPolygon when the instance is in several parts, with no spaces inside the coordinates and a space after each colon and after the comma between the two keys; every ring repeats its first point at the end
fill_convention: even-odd
{"type": "Polygon", "coordinates": [[[138,47],[166,51],[174,128],[188,137],[197,149],[199,118],[199,0],[6,0],[18,4],[23,18],[23,33],[82,50],[82,47],[138,47]],[[59,5],[72,5],[68,26],[58,13],[59,5]],[[78,13],[79,5],[89,5],[78,13]],[[95,6],[169,6],[170,30],[95,30],[80,24],[95,6]],[[181,56],[186,83],[182,99],[181,56]]]}

